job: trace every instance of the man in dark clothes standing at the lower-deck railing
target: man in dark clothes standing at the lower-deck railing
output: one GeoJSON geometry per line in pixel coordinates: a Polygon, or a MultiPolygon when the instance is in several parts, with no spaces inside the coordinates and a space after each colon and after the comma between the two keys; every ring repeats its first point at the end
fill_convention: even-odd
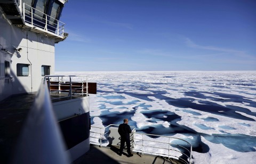
{"type": "Polygon", "coordinates": [[[131,143],[130,143],[130,133],[132,133],[131,127],[128,125],[129,120],[124,119],[124,123],[120,124],[118,127],[118,133],[121,135],[121,146],[119,156],[122,156],[124,150],[124,143],[126,142],[128,157],[132,157],[131,143]]]}

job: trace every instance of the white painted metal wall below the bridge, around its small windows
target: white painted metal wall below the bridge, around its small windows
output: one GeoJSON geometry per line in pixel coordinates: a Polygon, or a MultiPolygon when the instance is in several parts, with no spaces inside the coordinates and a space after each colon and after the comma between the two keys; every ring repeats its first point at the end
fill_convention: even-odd
{"type": "Polygon", "coordinates": [[[3,15],[0,15],[0,27],[0,45],[12,54],[0,50],[1,101],[12,94],[37,91],[42,79],[42,65],[51,66],[50,74],[54,74],[54,39],[10,25],[3,15]],[[22,51],[14,48],[22,48],[22,51]],[[10,62],[12,81],[4,79],[5,61],[10,62]],[[17,77],[17,63],[29,64],[29,76],[17,77]]]}

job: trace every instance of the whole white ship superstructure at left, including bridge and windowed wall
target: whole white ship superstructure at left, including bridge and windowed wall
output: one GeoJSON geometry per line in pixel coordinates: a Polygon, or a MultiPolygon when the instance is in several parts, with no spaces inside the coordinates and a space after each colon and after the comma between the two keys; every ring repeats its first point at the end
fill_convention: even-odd
{"type": "Polygon", "coordinates": [[[54,74],[54,45],[67,36],[59,21],[65,2],[0,0],[0,101],[37,91],[54,74]]]}

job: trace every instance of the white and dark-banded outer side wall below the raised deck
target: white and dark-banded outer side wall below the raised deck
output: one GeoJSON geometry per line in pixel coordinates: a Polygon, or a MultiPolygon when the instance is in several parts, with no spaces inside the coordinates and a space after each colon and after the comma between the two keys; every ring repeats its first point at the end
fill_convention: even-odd
{"type": "Polygon", "coordinates": [[[89,96],[53,103],[71,161],[90,149],[89,96]]]}

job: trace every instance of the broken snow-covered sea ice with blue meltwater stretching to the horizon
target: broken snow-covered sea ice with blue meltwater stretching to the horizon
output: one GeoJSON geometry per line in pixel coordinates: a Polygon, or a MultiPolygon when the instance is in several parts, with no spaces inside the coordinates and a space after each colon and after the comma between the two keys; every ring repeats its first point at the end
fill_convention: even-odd
{"type": "Polygon", "coordinates": [[[180,137],[194,163],[255,163],[256,72],[59,72],[97,82],[92,125],[180,137]]]}

